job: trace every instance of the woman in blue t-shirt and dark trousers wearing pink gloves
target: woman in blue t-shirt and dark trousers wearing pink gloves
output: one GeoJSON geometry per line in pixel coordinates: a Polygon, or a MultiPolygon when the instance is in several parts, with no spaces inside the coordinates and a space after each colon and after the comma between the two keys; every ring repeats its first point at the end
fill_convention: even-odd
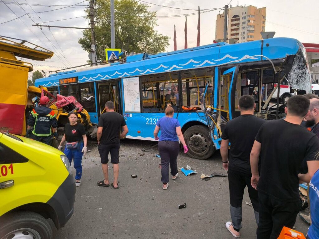
{"type": "Polygon", "coordinates": [[[181,141],[184,147],[184,153],[186,154],[188,148],[186,146],[181,125],[177,119],[173,118],[174,116],[174,109],[171,107],[170,104],[167,104],[167,108],[165,109],[165,117],[159,119],[156,124],[154,130],[154,138],[155,140],[159,141],[158,148],[159,148],[159,155],[161,157],[161,166],[162,166],[162,183],[163,189],[166,190],[168,187],[168,168],[171,165],[171,174],[172,179],[177,178],[177,156],[179,152],[179,142],[178,139],[181,141]],[[160,136],[158,137],[157,134],[160,130],[160,136]]]}

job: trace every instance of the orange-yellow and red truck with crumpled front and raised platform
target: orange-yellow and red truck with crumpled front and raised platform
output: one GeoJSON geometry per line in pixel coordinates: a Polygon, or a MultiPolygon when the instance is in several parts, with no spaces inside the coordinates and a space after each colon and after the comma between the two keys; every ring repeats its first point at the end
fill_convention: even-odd
{"type": "Polygon", "coordinates": [[[52,56],[53,52],[26,40],[0,36],[0,131],[25,135],[26,119],[37,102],[32,99],[46,95],[51,99],[49,107],[56,113],[59,127],[59,136],[57,141],[53,141],[53,146],[57,147],[61,141],[63,127],[68,122],[67,114],[74,110],[87,134],[94,138],[96,127],[93,127],[88,112],[74,97],[49,93],[46,87],[27,87],[28,72],[33,71],[33,65],[19,61],[17,57],[44,61],[52,56]]]}

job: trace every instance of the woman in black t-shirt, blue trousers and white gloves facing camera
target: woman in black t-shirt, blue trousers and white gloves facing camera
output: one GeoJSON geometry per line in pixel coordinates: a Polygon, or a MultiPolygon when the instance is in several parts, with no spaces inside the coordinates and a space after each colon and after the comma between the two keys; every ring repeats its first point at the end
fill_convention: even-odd
{"type": "Polygon", "coordinates": [[[81,185],[82,176],[82,156],[87,152],[86,148],[86,134],[85,128],[82,124],[78,123],[78,115],[76,112],[70,112],[68,114],[70,123],[64,126],[64,135],[61,143],[58,147],[59,150],[62,149],[63,143],[66,141],[64,148],[64,154],[68,157],[70,165],[73,159],[73,166],[76,170],[75,174],[75,186],[81,185]]]}

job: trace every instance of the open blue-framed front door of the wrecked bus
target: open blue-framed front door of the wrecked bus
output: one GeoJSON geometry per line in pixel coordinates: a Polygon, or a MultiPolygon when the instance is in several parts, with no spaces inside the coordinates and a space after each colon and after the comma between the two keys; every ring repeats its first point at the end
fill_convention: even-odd
{"type": "Polygon", "coordinates": [[[219,101],[218,110],[220,111],[218,121],[221,117],[231,120],[235,118],[235,94],[236,94],[236,79],[238,75],[239,66],[232,68],[224,68],[220,70],[220,87],[219,87],[219,101]]]}

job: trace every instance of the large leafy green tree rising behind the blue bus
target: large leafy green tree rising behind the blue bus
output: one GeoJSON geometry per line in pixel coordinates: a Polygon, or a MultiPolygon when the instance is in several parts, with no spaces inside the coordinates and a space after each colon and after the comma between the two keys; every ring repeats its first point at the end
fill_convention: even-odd
{"type": "MultiPolygon", "coordinates": [[[[130,52],[147,52],[157,54],[165,51],[168,36],[154,30],[156,11],[148,11],[148,6],[136,0],[115,0],[115,48],[130,52]]],[[[89,14],[89,11],[87,10],[89,14]]],[[[97,23],[94,29],[95,41],[99,45],[111,47],[110,0],[95,1],[97,23]]],[[[89,17],[87,17],[89,18],[89,17]]],[[[91,31],[84,30],[83,37],[78,39],[81,47],[90,52],[91,31]]],[[[105,56],[97,51],[97,58],[105,60],[105,56]]]]}

